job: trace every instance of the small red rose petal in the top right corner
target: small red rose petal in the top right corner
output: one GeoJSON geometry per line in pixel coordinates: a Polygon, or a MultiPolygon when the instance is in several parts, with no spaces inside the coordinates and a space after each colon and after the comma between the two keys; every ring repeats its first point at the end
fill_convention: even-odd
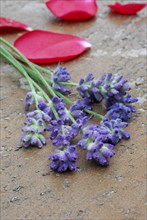
{"type": "Polygon", "coordinates": [[[119,14],[124,15],[134,15],[140,10],[142,10],[145,6],[147,6],[146,3],[128,3],[128,4],[121,4],[119,2],[116,2],[113,5],[108,5],[109,8],[111,8],[112,11],[115,11],[119,14]]]}

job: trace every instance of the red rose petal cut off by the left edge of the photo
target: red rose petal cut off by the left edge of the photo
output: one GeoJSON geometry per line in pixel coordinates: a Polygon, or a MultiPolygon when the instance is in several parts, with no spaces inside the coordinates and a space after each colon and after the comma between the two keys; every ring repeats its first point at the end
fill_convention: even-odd
{"type": "Polygon", "coordinates": [[[32,28],[27,26],[26,24],[23,24],[19,21],[12,20],[10,18],[4,18],[0,17],[0,33],[7,33],[12,30],[18,30],[18,31],[30,31],[32,28]]]}

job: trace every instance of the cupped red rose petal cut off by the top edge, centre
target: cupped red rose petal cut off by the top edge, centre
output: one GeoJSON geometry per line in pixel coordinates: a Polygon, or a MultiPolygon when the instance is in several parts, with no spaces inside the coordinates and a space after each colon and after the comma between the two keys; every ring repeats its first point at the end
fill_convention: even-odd
{"type": "Polygon", "coordinates": [[[55,16],[65,20],[87,20],[98,10],[96,0],[49,0],[46,6],[55,16]]]}

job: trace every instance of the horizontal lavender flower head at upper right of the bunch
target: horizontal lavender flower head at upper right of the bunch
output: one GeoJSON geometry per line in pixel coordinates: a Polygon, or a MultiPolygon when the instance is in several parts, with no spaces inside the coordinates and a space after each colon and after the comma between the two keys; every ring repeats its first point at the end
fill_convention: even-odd
{"type": "Polygon", "coordinates": [[[111,73],[103,75],[100,79],[94,80],[92,74],[88,74],[85,79],[79,81],[77,90],[83,98],[91,98],[93,102],[108,100],[110,97],[120,100],[126,95],[130,87],[123,76],[113,77],[111,73]]]}

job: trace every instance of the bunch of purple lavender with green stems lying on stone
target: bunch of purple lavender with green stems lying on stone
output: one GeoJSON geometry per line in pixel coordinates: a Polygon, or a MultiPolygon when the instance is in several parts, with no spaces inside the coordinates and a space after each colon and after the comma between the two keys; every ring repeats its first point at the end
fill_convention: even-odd
{"type": "Polygon", "coordinates": [[[110,73],[99,79],[88,74],[75,83],[65,67],[59,66],[54,71],[42,68],[28,61],[3,38],[0,42],[3,43],[0,55],[26,78],[31,89],[26,95],[25,110],[29,111],[30,107],[34,110],[26,114],[21,137],[23,147],[42,148],[47,143],[44,137],[47,131],[55,146],[49,156],[52,170],[76,170],[77,147],[86,151],[87,160],[107,166],[115,154],[114,146],[123,138],[130,138],[125,128],[136,111],[132,104],[137,99],[128,93],[127,80],[110,73]],[[71,87],[79,93],[74,102],[69,99],[71,87]],[[104,116],[92,109],[94,103],[98,105],[102,101],[106,106],[104,116]],[[90,124],[92,117],[101,120],[100,123],[90,124]],[[79,141],[73,145],[77,136],[79,141]]]}

